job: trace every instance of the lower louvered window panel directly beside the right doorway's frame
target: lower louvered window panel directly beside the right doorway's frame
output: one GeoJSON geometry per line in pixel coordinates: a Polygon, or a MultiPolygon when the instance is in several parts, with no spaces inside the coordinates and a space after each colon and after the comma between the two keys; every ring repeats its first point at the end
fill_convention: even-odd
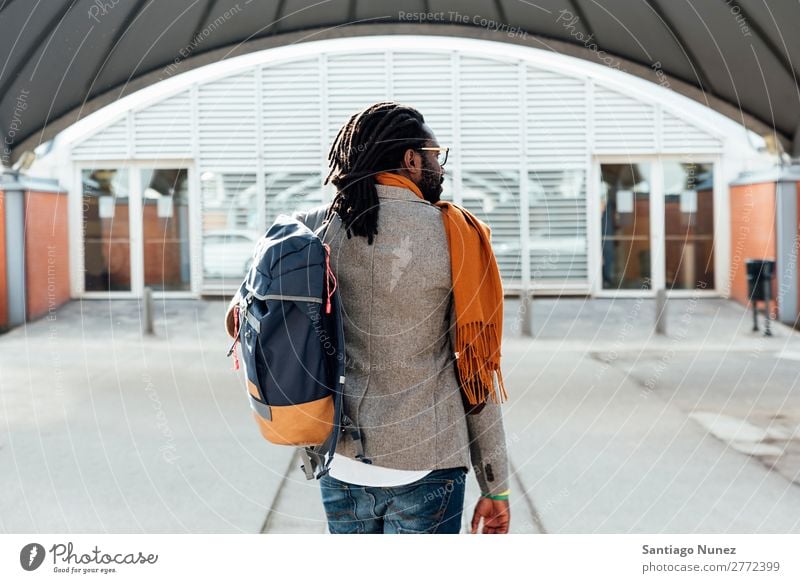
{"type": "Polygon", "coordinates": [[[534,285],[588,283],[584,176],[583,170],[542,170],[528,175],[534,285]]]}

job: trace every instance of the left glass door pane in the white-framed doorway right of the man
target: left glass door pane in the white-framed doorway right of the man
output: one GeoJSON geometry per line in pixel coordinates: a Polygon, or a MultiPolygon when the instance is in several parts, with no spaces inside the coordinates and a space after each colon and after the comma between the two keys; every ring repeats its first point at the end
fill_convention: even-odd
{"type": "Polygon", "coordinates": [[[646,162],[600,164],[603,290],[652,289],[650,180],[646,162]]]}

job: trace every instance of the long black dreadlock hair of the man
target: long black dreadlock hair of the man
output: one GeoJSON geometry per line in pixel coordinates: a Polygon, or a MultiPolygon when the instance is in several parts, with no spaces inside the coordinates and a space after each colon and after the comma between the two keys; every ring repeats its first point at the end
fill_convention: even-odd
{"type": "Polygon", "coordinates": [[[409,148],[424,145],[429,135],[425,118],[412,107],[381,101],[354,114],[342,126],[328,153],[330,173],[323,184],[336,186],[328,214],[336,212],[347,238],[378,234],[378,193],[373,176],[401,167],[409,148]]]}

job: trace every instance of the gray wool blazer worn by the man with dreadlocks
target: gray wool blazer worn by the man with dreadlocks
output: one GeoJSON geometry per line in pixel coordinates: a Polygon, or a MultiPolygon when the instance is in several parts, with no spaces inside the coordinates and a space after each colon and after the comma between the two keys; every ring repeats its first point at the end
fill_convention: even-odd
{"type": "MultiPolygon", "coordinates": [[[[344,407],[376,465],[470,465],[483,493],[509,487],[500,405],[466,415],[452,346],[450,255],[441,211],[406,188],[377,185],[378,234],[348,239],[338,215],[325,233],[341,292],[344,407]]],[[[316,229],[327,205],[295,218],[316,229]]],[[[336,453],[354,458],[349,434],[336,453]]]]}

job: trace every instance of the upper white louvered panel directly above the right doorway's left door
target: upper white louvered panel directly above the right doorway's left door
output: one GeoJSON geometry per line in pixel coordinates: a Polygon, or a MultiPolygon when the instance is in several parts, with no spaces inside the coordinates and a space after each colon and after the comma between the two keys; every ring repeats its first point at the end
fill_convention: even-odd
{"type": "Polygon", "coordinates": [[[594,90],[594,151],[652,153],[656,148],[655,109],[602,86],[594,90]]]}

